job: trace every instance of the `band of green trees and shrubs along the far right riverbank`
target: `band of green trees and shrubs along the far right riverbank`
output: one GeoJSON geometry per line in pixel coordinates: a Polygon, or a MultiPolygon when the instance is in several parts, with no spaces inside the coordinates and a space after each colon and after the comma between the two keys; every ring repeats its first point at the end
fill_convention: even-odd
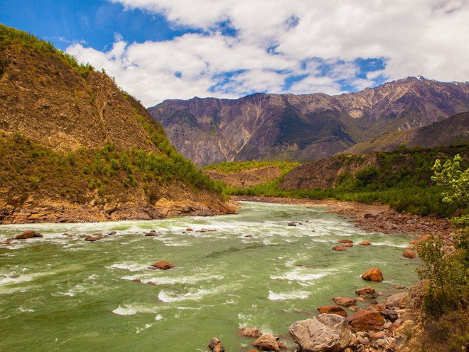
{"type": "MultiPolygon", "coordinates": [[[[325,199],[389,204],[397,211],[413,214],[448,216],[458,209],[454,203],[443,203],[442,186],[432,181],[436,159],[448,160],[455,154],[467,155],[469,146],[435,149],[399,148],[377,153],[376,166],[368,166],[355,174],[339,174],[335,186],[328,188],[286,190],[281,187],[284,175],[273,181],[249,188],[227,188],[226,193],[238,196],[271,196],[325,199]],[[411,160],[411,163],[404,162],[411,160]]],[[[360,158],[361,156],[352,156],[360,158]]],[[[467,159],[461,166],[467,167],[467,159]]],[[[212,166],[213,167],[213,166],[212,166]]],[[[232,166],[233,168],[233,166],[232,166]]]]}

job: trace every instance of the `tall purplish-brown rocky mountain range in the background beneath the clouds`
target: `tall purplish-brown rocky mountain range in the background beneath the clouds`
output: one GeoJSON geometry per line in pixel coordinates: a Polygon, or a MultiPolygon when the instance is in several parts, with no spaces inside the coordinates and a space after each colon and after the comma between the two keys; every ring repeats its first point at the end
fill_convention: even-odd
{"type": "Polygon", "coordinates": [[[176,149],[200,166],[321,159],[383,132],[424,127],[467,111],[468,82],[414,77],[337,96],[195,97],[149,108],[176,149]]]}

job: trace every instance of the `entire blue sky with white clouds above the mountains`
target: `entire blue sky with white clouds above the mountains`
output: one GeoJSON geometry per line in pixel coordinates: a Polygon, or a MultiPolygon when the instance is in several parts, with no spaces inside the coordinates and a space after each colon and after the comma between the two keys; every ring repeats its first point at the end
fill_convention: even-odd
{"type": "Polygon", "coordinates": [[[469,80],[469,0],[1,0],[0,23],[104,68],[146,107],[469,80]]]}

